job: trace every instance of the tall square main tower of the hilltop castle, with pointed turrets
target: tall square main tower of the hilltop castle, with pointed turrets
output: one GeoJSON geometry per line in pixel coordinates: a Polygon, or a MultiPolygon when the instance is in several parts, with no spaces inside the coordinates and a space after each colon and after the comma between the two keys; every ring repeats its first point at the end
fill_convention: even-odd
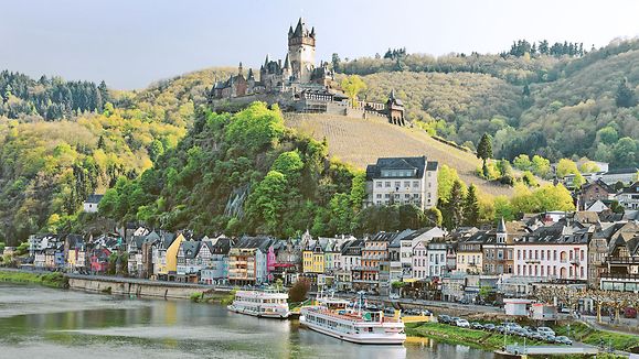
{"type": "Polygon", "coordinates": [[[302,18],[299,18],[295,30],[288,29],[288,58],[291,75],[300,83],[310,83],[315,68],[315,28],[310,31],[302,18]]]}

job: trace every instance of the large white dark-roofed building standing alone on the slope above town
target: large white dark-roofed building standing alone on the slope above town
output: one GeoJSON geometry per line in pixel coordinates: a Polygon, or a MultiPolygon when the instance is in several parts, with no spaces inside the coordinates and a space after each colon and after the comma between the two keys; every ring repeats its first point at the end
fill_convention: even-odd
{"type": "Polygon", "coordinates": [[[377,159],[366,167],[364,206],[414,204],[420,209],[437,206],[436,161],[420,157],[377,159]]]}

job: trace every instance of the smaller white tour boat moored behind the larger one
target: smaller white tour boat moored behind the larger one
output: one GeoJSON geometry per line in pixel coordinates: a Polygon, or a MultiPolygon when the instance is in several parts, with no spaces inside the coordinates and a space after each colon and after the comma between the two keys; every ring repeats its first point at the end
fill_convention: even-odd
{"type": "Polygon", "coordinates": [[[264,318],[288,318],[288,294],[273,291],[237,291],[228,311],[264,318]]]}

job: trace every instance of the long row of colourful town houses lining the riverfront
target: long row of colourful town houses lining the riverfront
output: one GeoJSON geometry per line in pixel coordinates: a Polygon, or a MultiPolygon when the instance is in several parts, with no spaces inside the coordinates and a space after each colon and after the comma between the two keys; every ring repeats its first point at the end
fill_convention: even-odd
{"type": "Polygon", "coordinates": [[[472,280],[477,287],[490,283],[512,295],[544,282],[637,292],[639,224],[608,218],[549,211],[501,219],[494,228],[432,227],[362,238],[313,238],[307,231],[288,240],[132,227],[97,238],[32,236],[30,253],[31,265],[41,269],[106,273],[110,268],[135,278],[206,284],[291,284],[305,276],[318,286],[385,295],[395,282],[423,283],[459,300],[459,289],[479,278],[483,284],[472,280]]]}

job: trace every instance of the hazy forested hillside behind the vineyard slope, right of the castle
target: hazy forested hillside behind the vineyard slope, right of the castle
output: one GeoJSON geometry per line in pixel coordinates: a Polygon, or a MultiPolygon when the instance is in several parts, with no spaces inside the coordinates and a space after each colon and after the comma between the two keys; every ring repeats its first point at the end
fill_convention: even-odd
{"type": "Polygon", "coordinates": [[[571,43],[539,48],[520,41],[500,55],[400,52],[336,64],[365,75],[369,99],[398,90],[412,120],[449,140],[471,146],[483,132],[492,134],[497,157],[587,156],[637,165],[639,40],[588,53],[571,43]]]}

